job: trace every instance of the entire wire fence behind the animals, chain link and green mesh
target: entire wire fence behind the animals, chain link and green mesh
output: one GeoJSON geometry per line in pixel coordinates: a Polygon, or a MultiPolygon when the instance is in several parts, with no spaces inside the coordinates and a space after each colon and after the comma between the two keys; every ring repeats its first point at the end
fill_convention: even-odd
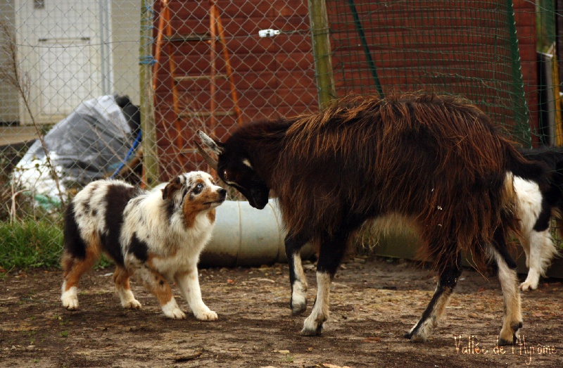
{"type": "Polygon", "coordinates": [[[462,94],[518,141],[562,145],[562,3],[1,1],[0,221],[59,226],[91,180],[207,170],[197,129],[224,139],[325,92],[462,94]]]}

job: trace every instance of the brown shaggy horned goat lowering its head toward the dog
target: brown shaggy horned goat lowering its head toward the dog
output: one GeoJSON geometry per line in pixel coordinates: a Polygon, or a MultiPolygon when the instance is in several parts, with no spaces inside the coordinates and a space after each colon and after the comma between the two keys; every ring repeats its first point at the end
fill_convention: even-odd
{"type": "Polygon", "coordinates": [[[218,156],[202,155],[220,178],[264,208],[270,189],[288,229],[286,255],[293,314],[305,310],[307,281],[299,250],[318,249],[317,298],[302,334],[329,317],[329,288],[346,245],[366,220],[399,215],[424,240],[420,253],[440,272],[422,318],[406,334],[426,341],[462,272],[461,253],[498,265],[505,302],[500,344],[521,327],[516,267],[506,250],[517,229],[512,175],[538,179],[543,167],[471,103],[453,96],[403,94],[345,99],[320,113],[241,126],[219,142],[198,132],[218,156]]]}

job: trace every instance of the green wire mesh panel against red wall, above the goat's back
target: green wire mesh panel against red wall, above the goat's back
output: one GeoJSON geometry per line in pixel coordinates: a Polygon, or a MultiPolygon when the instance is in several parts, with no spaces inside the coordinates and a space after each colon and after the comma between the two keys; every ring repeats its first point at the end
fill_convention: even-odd
{"type": "Polygon", "coordinates": [[[329,4],[339,94],[461,94],[528,143],[511,1],[329,4]]]}

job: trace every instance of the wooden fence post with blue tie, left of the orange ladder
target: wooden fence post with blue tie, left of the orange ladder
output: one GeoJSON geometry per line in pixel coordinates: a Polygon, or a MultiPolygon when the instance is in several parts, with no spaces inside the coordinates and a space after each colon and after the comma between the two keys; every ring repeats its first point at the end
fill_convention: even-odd
{"type": "Polygon", "coordinates": [[[160,167],[154,118],[153,70],[153,1],[141,0],[141,38],[139,46],[139,87],[141,98],[141,131],[143,132],[143,184],[158,184],[160,167]]]}

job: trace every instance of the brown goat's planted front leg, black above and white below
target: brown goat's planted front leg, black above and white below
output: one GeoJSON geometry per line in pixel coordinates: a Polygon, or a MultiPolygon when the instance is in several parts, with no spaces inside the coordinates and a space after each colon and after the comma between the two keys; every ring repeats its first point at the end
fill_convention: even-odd
{"type": "Polygon", "coordinates": [[[330,285],[343,258],[347,240],[348,233],[324,239],[320,243],[317,262],[317,298],[311,314],[303,324],[301,331],[303,335],[320,335],[322,324],[329,318],[330,285]]]}

